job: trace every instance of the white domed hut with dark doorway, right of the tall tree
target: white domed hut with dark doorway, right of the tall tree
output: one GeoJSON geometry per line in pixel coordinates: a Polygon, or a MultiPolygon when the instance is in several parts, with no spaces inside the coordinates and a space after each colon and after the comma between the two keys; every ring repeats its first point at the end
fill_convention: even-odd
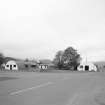
{"type": "Polygon", "coordinates": [[[78,71],[97,71],[97,67],[90,62],[83,62],[81,63],[78,68],[78,71]]]}

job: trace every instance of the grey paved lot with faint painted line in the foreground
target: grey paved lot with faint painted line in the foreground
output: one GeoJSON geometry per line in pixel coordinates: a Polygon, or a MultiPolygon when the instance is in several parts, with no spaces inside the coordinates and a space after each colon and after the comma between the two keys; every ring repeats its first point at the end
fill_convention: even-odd
{"type": "Polygon", "coordinates": [[[0,105],[105,105],[105,73],[0,73],[0,105]]]}

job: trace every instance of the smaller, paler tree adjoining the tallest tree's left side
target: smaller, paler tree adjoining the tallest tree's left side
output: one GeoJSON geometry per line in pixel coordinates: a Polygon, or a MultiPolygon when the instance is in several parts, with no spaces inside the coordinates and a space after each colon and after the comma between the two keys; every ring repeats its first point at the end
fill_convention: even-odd
{"type": "Polygon", "coordinates": [[[61,69],[63,67],[62,55],[63,55],[63,51],[58,51],[56,56],[55,56],[55,59],[53,60],[53,63],[59,69],[61,69]]]}

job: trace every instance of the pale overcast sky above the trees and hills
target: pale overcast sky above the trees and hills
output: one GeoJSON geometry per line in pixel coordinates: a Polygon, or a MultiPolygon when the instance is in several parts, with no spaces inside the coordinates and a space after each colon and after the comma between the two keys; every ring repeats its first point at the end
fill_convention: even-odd
{"type": "Polygon", "coordinates": [[[105,0],[1,0],[0,37],[5,56],[53,59],[72,46],[105,60],[105,0]]]}

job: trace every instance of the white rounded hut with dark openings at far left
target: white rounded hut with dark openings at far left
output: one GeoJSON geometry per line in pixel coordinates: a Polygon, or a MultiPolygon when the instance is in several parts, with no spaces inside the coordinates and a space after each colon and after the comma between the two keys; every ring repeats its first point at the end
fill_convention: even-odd
{"type": "Polygon", "coordinates": [[[5,64],[6,70],[18,70],[18,65],[15,61],[10,60],[5,64]]]}

